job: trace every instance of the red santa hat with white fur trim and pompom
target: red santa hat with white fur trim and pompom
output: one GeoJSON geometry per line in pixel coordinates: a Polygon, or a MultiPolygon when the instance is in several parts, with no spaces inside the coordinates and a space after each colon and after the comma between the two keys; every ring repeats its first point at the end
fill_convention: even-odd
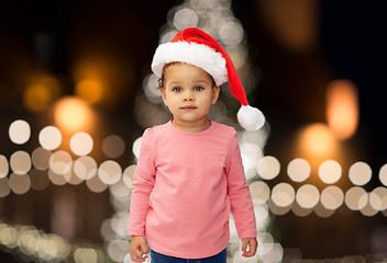
{"type": "Polygon", "coordinates": [[[247,130],[256,130],[265,124],[262,112],[248,105],[245,90],[229,54],[212,36],[196,27],[180,31],[172,42],[157,47],[152,70],[161,77],[164,65],[173,61],[203,69],[212,76],[217,85],[229,80],[231,94],[242,104],[236,115],[241,126],[247,130]]]}

